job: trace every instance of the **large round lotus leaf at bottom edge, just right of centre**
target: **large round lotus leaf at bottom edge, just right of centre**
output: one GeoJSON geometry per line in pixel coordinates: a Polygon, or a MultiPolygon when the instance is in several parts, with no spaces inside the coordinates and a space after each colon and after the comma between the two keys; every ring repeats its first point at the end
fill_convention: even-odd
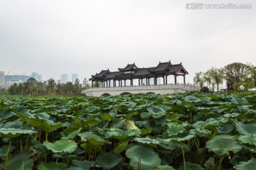
{"type": "Polygon", "coordinates": [[[161,163],[159,154],[154,152],[152,147],[136,145],[127,149],[125,154],[130,159],[130,165],[133,169],[139,169],[139,162],[141,170],[155,169],[156,166],[159,166],[161,163]]]}

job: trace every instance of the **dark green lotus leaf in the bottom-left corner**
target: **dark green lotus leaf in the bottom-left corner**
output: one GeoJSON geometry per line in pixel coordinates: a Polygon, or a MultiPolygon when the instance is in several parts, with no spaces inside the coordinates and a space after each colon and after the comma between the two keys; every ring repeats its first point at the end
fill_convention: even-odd
{"type": "MultiPolygon", "coordinates": [[[[7,162],[8,169],[15,170],[31,170],[33,169],[32,152],[19,152],[14,157],[10,157],[7,162]]],[[[0,164],[1,167],[6,167],[6,162],[0,164]]],[[[1,169],[1,168],[0,168],[1,169]]]]}

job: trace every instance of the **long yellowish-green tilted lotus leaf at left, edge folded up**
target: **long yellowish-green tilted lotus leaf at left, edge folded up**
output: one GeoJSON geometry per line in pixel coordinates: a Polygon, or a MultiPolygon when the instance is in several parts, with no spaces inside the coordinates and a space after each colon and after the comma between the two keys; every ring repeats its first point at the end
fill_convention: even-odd
{"type": "Polygon", "coordinates": [[[33,128],[41,128],[42,130],[46,132],[52,132],[53,130],[56,130],[61,127],[61,123],[53,123],[50,120],[46,119],[38,119],[35,118],[33,115],[28,117],[29,115],[24,115],[23,113],[16,113],[21,120],[26,121],[28,125],[31,125],[33,128]]]}

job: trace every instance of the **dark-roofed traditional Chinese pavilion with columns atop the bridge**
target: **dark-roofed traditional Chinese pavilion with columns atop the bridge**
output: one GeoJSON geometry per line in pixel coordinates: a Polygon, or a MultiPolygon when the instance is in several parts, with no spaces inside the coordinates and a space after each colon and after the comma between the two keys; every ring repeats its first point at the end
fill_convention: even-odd
{"type": "Polygon", "coordinates": [[[110,72],[109,69],[102,70],[100,73],[92,75],[89,79],[94,82],[101,82],[102,87],[110,86],[110,81],[112,85],[115,86],[126,86],[126,80],[130,81],[130,86],[133,86],[134,79],[139,79],[139,86],[149,85],[149,79],[154,78],[154,85],[157,84],[157,78],[162,77],[164,79],[164,84],[168,84],[167,77],[169,75],[174,75],[174,82],[177,84],[176,77],[183,77],[183,84],[186,84],[186,74],[188,72],[182,64],[171,64],[169,62],[159,62],[156,67],[139,68],[135,64],[127,64],[127,67],[118,69],[118,72],[110,72]],[[142,80],[146,79],[146,84],[142,84],[142,80]],[[123,84],[124,82],[124,84],[123,84]],[[117,84],[118,83],[118,84],[117,84]]]}

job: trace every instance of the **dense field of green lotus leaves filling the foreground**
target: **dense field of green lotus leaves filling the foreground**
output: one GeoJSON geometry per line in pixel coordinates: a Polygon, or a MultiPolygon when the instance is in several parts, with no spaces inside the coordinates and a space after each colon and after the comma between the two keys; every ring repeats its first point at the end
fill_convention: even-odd
{"type": "Polygon", "coordinates": [[[0,96],[0,169],[254,169],[256,94],[0,96]]]}

